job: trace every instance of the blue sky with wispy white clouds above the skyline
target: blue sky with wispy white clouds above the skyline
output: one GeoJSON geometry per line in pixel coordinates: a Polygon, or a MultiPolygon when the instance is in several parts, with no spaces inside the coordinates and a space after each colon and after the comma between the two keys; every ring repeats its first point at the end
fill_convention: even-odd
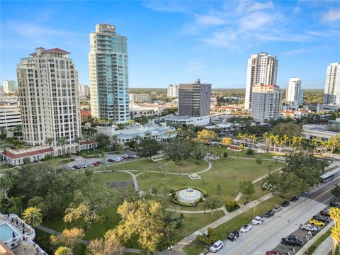
{"type": "Polygon", "coordinates": [[[340,1],[3,1],[0,80],[36,47],[71,52],[89,84],[89,34],[111,23],[128,37],[129,86],[165,88],[201,79],[245,88],[247,58],[278,57],[278,85],[300,77],[323,89],[340,62],[340,1]]]}

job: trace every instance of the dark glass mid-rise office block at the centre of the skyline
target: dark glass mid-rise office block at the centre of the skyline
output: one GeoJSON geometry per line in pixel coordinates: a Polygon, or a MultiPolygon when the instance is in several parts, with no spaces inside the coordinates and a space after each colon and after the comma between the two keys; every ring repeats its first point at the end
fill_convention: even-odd
{"type": "Polygon", "coordinates": [[[211,84],[179,84],[179,116],[200,117],[210,115],[211,84]]]}

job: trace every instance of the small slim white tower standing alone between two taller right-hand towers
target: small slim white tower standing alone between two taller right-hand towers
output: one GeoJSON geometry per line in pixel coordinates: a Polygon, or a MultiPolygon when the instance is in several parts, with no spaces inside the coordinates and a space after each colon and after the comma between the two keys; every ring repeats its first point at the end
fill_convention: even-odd
{"type": "Polygon", "coordinates": [[[290,78],[287,84],[287,91],[285,94],[285,106],[288,109],[298,109],[303,103],[303,89],[300,78],[290,78]]]}

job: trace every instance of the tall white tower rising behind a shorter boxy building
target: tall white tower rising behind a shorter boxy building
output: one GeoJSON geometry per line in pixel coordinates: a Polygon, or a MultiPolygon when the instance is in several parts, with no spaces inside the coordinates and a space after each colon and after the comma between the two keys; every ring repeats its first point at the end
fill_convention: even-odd
{"type": "Polygon", "coordinates": [[[244,108],[251,109],[253,87],[260,85],[276,85],[278,76],[278,60],[275,55],[266,52],[251,55],[246,70],[246,98],[244,108]]]}

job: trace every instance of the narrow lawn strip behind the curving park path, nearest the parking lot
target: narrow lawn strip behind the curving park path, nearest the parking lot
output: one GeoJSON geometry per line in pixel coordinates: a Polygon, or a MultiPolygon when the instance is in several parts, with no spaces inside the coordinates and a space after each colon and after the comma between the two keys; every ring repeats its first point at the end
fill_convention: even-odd
{"type": "Polygon", "coordinates": [[[137,171],[160,171],[164,174],[164,169],[168,173],[190,174],[203,171],[208,167],[208,163],[202,160],[188,159],[183,160],[180,166],[173,164],[169,166],[166,161],[152,162],[149,159],[140,159],[132,162],[124,162],[122,164],[112,164],[106,166],[106,170],[137,170],[137,171]]]}

